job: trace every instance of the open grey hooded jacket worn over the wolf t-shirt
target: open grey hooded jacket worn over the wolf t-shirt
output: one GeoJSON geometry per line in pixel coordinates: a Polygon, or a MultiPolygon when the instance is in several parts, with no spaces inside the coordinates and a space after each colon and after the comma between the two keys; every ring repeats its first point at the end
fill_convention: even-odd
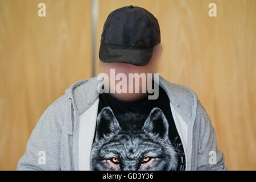
{"type": "MultiPolygon", "coordinates": [[[[17,170],[79,170],[79,115],[97,100],[98,83],[97,77],[75,82],[44,111],[17,170]],[[46,163],[39,162],[40,151],[45,152],[46,163]]],[[[159,85],[187,122],[186,170],[226,170],[224,155],[217,149],[214,128],[196,94],[162,77],[159,85]]]]}

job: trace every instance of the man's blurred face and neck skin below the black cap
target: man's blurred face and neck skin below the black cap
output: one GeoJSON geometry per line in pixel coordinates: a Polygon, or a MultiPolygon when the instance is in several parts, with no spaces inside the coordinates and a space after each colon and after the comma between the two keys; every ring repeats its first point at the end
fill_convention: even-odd
{"type": "MultiPolygon", "coordinates": [[[[154,47],[154,51],[152,53],[152,57],[150,62],[147,65],[144,66],[137,66],[129,63],[102,63],[101,62],[101,73],[106,73],[110,77],[110,69],[115,70],[115,75],[118,73],[124,73],[126,77],[129,77],[129,73],[138,73],[139,75],[141,73],[145,73],[146,75],[148,73],[155,73],[156,68],[158,66],[158,62],[160,59],[160,55],[162,53],[162,45],[157,45],[154,47]]],[[[115,80],[115,84],[117,84],[119,81],[115,80]]],[[[133,82],[133,84],[135,84],[133,82]]],[[[129,89],[129,81],[127,80],[127,89],[129,89]]],[[[139,84],[139,93],[114,93],[113,96],[126,101],[136,100],[140,97],[142,97],[144,94],[141,92],[142,83],[139,84]]],[[[133,85],[133,88],[135,85],[133,85]]]]}

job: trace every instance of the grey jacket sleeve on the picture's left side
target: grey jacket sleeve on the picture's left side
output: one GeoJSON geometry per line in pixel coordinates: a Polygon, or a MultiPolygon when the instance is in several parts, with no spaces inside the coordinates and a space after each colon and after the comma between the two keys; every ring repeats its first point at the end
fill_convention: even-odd
{"type": "Polygon", "coordinates": [[[28,139],[17,170],[59,170],[61,127],[52,104],[39,119],[28,139]]]}

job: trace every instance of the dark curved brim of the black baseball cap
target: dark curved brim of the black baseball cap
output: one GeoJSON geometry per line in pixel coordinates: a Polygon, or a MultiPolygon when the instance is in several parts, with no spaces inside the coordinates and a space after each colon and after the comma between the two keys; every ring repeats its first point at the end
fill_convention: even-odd
{"type": "Polygon", "coordinates": [[[105,63],[130,63],[147,65],[152,57],[152,48],[122,48],[101,44],[99,57],[105,63]]]}

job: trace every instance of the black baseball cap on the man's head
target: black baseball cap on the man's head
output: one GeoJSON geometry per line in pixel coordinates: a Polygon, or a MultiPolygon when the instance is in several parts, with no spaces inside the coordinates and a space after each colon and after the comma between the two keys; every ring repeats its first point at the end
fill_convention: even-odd
{"type": "Polygon", "coordinates": [[[160,43],[158,20],[146,9],[125,6],[112,11],[103,27],[99,57],[105,63],[146,65],[160,43]]]}

